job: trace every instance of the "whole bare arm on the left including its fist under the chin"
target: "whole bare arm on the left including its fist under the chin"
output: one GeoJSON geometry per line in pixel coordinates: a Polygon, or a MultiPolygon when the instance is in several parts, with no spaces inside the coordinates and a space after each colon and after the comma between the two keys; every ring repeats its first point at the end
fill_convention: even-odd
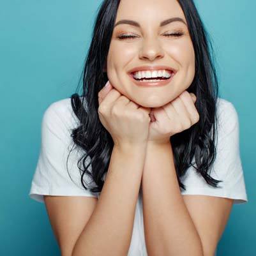
{"type": "Polygon", "coordinates": [[[45,198],[62,256],[126,256],[130,248],[150,109],[131,102],[110,83],[98,96],[100,121],[114,141],[99,199],[45,198]]]}

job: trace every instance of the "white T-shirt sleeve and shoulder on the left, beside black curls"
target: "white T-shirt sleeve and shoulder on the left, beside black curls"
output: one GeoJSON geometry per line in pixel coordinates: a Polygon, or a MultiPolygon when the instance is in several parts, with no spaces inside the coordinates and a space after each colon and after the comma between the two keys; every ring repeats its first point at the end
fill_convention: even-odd
{"type": "MultiPolygon", "coordinates": [[[[80,182],[79,151],[70,153],[66,166],[72,147],[70,133],[75,124],[67,107],[69,102],[70,98],[54,102],[43,114],[40,154],[29,192],[29,197],[38,202],[44,202],[43,195],[98,197],[98,193],[86,190],[80,182]]],[[[84,176],[86,184],[90,183],[87,174],[84,176]]]]}

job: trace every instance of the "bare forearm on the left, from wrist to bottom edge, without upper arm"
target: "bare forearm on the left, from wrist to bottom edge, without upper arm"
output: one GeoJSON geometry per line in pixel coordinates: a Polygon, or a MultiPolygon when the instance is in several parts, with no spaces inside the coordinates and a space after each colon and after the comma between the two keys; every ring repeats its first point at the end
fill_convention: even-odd
{"type": "Polygon", "coordinates": [[[127,255],[145,156],[146,144],[114,146],[101,195],[72,256],[127,255]]]}

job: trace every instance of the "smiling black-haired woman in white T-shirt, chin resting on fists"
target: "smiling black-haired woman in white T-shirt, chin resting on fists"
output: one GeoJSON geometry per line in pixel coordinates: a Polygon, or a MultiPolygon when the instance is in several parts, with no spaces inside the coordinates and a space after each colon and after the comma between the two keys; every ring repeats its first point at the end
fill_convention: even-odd
{"type": "Polygon", "coordinates": [[[43,116],[29,194],[63,256],[215,254],[248,200],[208,43],[193,1],[103,1],[82,96],[43,116]]]}

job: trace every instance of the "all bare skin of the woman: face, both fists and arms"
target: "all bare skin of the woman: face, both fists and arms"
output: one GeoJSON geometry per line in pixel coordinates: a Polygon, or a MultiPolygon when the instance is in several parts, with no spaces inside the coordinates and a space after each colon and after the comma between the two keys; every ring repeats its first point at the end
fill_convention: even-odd
{"type": "Polygon", "coordinates": [[[100,121],[119,142],[102,193],[98,200],[45,196],[63,256],[127,255],[140,181],[147,254],[214,255],[233,200],[179,190],[169,137],[197,123],[199,116],[195,96],[186,91],[195,75],[187,27],[182,22],[159,27],[176,16],[184,19],[174,0],[120,3],[116,22],[136,20],[141,29],[124,24],[114,29],[106,63],[110,82],[98,93],[100,121]],[[164,36],[177,29],[184,35],[164,36]],[[136,38],[119,40],[122,31],[136,38]],[[167,86],[137,87],[127,72],[145,64],[171,66],[177,73],[167,86]],[[124,146],[127,138],[132,143],[124,146]]]}

